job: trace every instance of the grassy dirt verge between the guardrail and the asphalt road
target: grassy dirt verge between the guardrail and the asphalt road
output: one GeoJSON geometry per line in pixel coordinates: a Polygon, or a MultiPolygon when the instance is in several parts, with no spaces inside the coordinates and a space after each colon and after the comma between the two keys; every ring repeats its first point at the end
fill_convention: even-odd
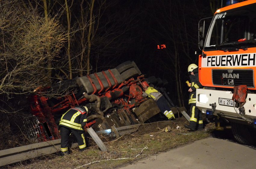
{"type": "Polygon", "coordinates": [[[191,132],[184,128],[184,124],[188,124],[184,117],[173,121],[142,124],[136,132],[124,134],[118,139],[111,140],[101,136],[108,152],[102,152],[95,142],[89,139],[89,146],[84,152],[72,149],[71,154],[64,157],[56,153],[4,168],[117,168],[209,137],[214,128],[213,124],[207,124],[204,131],[191,132]]]}

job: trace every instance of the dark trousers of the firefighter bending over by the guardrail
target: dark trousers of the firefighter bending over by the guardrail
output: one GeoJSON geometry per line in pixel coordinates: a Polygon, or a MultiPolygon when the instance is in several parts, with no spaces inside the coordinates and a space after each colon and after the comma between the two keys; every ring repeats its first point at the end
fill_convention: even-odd
{"type": "Polygon", "coordinates": [[[74,134],[74,136],[76,138],[76,141],[79,146],[79,151],[85,150],[86,143],[85,143],[84,131],[72,130],[72,129],[66,128],[64,126],[61,126],[60,130],[61,130],[61,151],[62,152],[68,151],[68,138],[69,138],[71,132],[74,134]]]}

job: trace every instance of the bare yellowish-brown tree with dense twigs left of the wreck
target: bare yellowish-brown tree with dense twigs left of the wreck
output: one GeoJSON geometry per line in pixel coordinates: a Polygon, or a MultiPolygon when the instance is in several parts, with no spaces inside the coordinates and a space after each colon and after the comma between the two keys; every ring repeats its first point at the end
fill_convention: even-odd
{"type": "Polygon", "coordinates": [[[48,60],[61,52],[65,37],[57,20],[0,1],[0,95],[31,93],[48,83],[48,60]]]}

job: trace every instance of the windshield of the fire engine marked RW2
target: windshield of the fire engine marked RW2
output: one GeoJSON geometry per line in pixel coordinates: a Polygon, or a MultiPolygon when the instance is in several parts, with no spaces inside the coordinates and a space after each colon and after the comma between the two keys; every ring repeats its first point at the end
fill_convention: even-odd
{"type": "Polygon", "coordinates": [[[255,39],[256,4],[252,4],[215,14],[204,50],[247,49],[256,46],[255,39]]]}

